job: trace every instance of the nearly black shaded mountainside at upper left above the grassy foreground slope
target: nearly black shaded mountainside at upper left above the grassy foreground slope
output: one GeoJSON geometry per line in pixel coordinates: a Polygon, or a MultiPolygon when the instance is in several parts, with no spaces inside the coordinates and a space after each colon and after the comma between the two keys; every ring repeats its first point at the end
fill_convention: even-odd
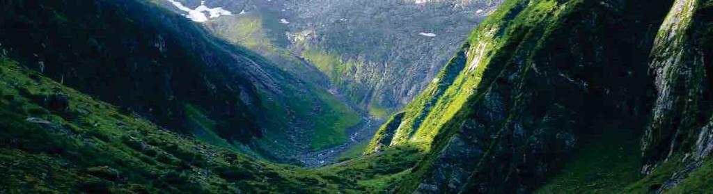
{"type": "Polygon", "coordinates": [[[0,43],[26,66],[168,128],[188,129],[193,105],[222,137],[260,136],[255,86],[225,66],[245,63],[183,17],[138,1],[1,4],[0,43]]]}

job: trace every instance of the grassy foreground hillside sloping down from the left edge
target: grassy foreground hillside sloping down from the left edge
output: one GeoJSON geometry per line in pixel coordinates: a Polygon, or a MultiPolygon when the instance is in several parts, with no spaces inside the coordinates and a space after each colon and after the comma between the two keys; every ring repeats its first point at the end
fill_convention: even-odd
{"type": "Polygon", "coordinates": [[[401,147],[326,168],[275,165],[166,131],[5,56],[0,96],[0,193],[376,193],[419,158],[401,147]]]}

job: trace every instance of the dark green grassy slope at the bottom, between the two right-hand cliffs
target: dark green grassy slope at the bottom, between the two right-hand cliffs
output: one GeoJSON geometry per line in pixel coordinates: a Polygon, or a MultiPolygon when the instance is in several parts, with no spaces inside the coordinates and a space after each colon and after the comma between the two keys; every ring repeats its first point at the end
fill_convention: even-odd
{"type": "Polygon", "coordinates": [[[640,132],[618,124],[589,136],[534,193],[622,193],[643,177],[640,132]]]}

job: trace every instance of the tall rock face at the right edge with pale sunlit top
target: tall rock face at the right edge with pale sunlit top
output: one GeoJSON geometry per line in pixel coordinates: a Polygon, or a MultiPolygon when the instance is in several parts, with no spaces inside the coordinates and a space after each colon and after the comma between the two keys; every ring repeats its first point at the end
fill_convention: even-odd
{"type": "MultiPolygon", "coordinates": [[[[707,148],[713,97],[710,25],[705,1],[676,1],[652,51],[657,99],[642,150],[649,163],[684,150],[707,148]]],[[[696,152],[695,158],[707,155],[696,152]]]]}

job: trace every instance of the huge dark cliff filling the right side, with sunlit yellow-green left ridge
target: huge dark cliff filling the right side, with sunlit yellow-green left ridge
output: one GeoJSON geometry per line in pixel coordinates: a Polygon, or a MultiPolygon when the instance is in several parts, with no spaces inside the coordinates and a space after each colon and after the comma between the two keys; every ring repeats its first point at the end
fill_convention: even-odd
{"type": "Polygon", "coordinates": [[[429,149],[400,193],[641,193],[701,181],[682,174],[709,173],[709,4],[506,1],[367,153],[429,149]]]}

